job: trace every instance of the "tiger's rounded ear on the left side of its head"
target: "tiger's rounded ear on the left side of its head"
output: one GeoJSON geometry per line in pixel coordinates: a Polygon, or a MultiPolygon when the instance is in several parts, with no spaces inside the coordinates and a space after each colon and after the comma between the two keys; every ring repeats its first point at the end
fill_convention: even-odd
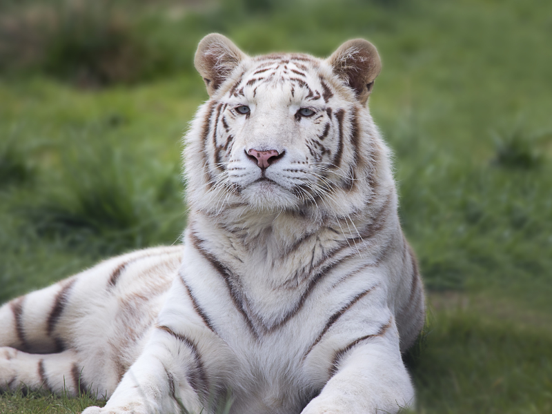
{"type": "Polygon", "coordinates": [[[203,77],[209,96],[221,86],[246,55],[222,34],[211,33],[201,39],[194,65],[203,77]]]}

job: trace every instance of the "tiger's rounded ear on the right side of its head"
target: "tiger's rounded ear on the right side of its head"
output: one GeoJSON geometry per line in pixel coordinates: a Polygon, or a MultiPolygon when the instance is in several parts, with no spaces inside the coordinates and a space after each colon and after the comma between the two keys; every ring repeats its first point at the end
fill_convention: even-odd
{"type": "Polygon", "coordinates": [[[375,46],[364,39],[349,40],[339,46],[327,62],[335,75],[353,88],[357,99],[366,103],[374,79],[382,70],[382,61],[375,46]]]}

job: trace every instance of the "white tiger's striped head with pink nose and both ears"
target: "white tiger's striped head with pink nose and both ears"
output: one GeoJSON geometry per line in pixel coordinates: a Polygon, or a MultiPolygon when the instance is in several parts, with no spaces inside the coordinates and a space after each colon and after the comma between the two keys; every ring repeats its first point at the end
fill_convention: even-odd
{"type": "Polygon", "coordinates": [[[369,202],[376,175],[390,174],[378,172],[386,147],[366,108],[381,69],[368,41],[347,41],[325,60],[248,57],[209,34],[195,67],[210,97],[186,136],[195,208],[348,214],[369,202]]]}

